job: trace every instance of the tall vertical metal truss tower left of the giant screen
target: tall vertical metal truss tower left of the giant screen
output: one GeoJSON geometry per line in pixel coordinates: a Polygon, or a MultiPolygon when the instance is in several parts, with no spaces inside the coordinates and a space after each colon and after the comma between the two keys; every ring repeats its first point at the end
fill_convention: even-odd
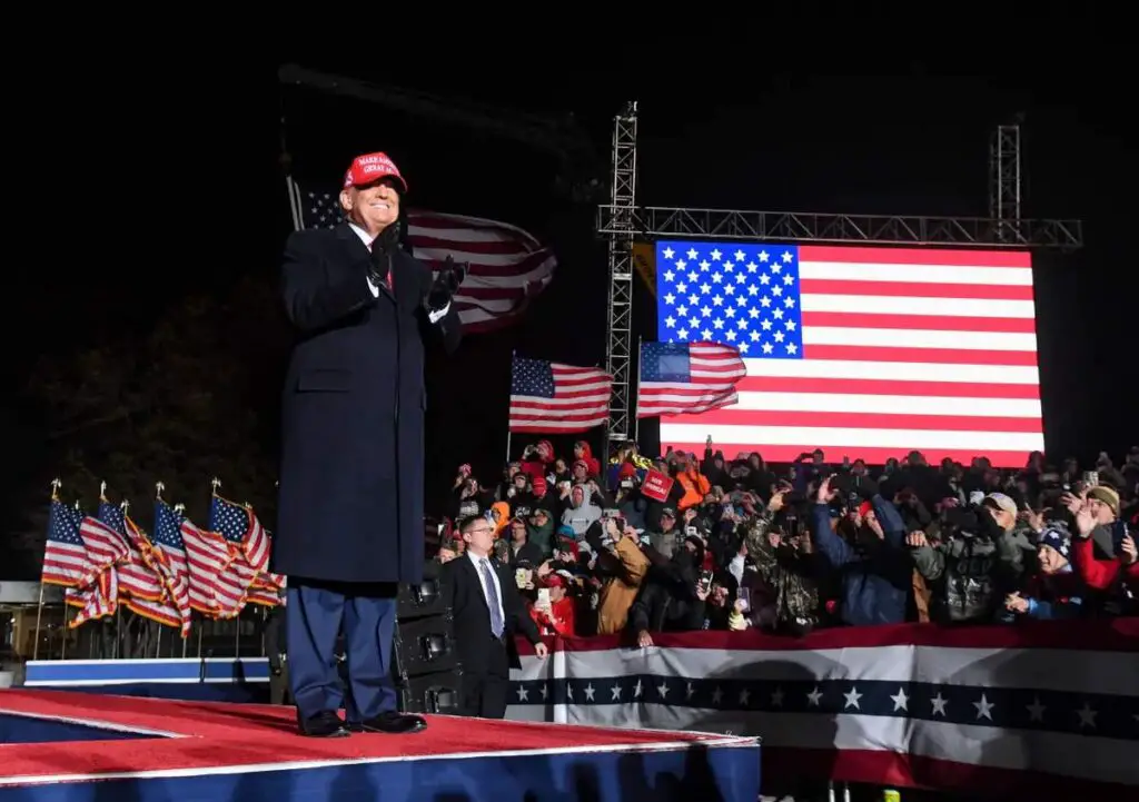
{"type": "MultiPolygon", "coordinates": [[[[637,231],[637,101],[628,103],[613,121],[612,211],[605,234],[609,240],[609,321],[606,370],[613,376],[609,442],[630,437],[630,371],[632,369],[633,235],[637,231]]],[[[608,449],[606,448],[606,457],[608,449]]]]}

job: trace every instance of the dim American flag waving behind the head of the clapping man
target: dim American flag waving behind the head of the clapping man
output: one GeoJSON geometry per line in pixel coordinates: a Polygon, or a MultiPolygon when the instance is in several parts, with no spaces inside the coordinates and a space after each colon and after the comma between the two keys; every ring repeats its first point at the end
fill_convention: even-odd
{"type": "MultiPolygon", "coordinates": [[[[339,190],[302,194],[305,228],[333,228],[342,220],[339,190]]],[[[416,259],[439,270],[448,256],[469,271],[454,296],[464,332],[489,332],[517,322],[554,280],[557,259],[533,236],[497,220],[408,211],[408,245],[416,259]]]]}

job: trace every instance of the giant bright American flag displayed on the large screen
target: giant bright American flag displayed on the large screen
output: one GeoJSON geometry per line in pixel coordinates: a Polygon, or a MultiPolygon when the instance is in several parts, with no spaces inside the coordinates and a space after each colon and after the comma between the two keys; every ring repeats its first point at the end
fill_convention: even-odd
{"type": "Polygon", "coordinates": [[[776,243],[656,245],[658,335],[739,347],[739,401],[661,442],[882,464],[1043,449],[1031,256],[776,243]]]}

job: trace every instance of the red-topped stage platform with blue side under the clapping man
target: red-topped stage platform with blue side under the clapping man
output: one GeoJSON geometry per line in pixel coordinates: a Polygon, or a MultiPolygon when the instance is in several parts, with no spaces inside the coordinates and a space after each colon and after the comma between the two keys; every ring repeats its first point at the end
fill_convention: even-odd
{"type": "Polygon", "coordinates": [[[292,707],[0,691],[0,802],[755,802],[756,738],[428,718],[319,739],[292,707]]]}

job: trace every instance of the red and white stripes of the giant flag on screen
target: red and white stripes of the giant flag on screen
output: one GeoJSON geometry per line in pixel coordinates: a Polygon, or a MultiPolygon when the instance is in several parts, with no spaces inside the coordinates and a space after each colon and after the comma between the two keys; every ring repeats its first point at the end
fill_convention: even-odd
{"type": "Polygon", "coordinates": [[[662,420],[663,445],[999,467],[1043,450],[1029,253],[804,245],[798,260],[803,359],[745,359],[739,401],[662,420]]]}

